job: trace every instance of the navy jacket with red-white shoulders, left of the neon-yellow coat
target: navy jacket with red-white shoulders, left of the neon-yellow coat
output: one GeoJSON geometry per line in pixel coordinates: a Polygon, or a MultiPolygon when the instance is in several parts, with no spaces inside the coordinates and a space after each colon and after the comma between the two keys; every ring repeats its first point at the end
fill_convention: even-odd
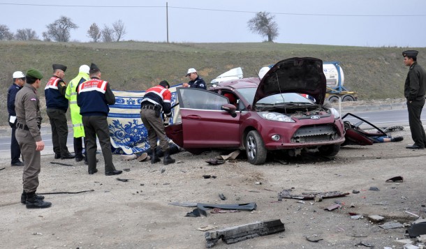
{"type": "Polygon", "coordinates": [[[66,84],[59,77],[52,76],[45,87],[46,107],[68,110],[68,100],[65,98],[66,84]]]}

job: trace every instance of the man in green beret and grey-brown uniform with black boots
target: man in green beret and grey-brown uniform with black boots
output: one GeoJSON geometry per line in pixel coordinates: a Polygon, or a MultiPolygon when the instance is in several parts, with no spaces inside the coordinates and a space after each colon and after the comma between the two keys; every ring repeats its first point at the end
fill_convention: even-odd
{"type": "Polygon", "coordinates": [[[41,154],[45,143],[41,139],[41,112],[40,100],[37,89],[41,86],[43,75],[36,69],[27,71],[27,84],[17,92],[15,98],[16,112],[16,139],[20,145],[22,159],[24,160],[24,172],[22,183],[24,191],[21,195],[21,203],[26,204],[27,209],[43,209],[52,205],[45,202],[43,195],[37,195],[38,174],[41,171],[41,154]]]}

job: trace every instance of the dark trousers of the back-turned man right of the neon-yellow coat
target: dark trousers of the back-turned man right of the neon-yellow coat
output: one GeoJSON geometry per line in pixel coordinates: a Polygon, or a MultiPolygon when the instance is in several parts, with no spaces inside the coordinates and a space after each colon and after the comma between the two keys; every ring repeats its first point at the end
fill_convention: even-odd
{"type": "Polygon", "coordinates": [[[85,126],[85,139],[87,141],[86,153],[89,171],[96,169],[96,136],[101,144],[103,160],[105,161],[105,172],[115,170],[112,163],[112,151],[110,140],[110,128],[106,116],[82,116],[83,126],[85,126]]]}

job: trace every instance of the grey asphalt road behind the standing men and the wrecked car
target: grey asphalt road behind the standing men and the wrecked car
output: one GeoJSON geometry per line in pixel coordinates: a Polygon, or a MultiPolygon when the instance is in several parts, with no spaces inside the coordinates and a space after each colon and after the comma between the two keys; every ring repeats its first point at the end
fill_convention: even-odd
{"type": "MultiPolygon", "coordinates": [[[[379,128],[386,128],[389,126],[409,126],[409,116],[407,110],[383,110],[376,112],[351,112],[356,116],[359,116],[362,119],[373,123],[379,128]]],[[[342,116],[344,116],[343,113],[342,116]]],[[[350,121],[351,123],[355,122],[351,116],[344,119],[350,121]]],[[[426,114],[423,112],[422,121],[426,123],[426,114]]],[[[361,126],[361,128],[364,128],[361,126]]],[[[44,132],[42,132],[43,141],[45,142],[45,149],[42,151],[42,155],[53,154],[52,146],[52,134],[50,133],[50,128],[43,127],[44,132]]],[[[67,140],[68,150],[73,152],[73,130],[68,130],[68,140],[67,140]]],[[[8,132],[3,132],[0,135],[0,158],[10,157],[10,129],[8,132]]]]}

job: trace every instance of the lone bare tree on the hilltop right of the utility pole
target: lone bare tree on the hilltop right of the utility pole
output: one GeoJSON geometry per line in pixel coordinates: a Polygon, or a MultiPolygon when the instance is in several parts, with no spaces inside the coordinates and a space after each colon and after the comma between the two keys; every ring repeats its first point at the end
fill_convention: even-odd
{"type": "Polygon", "coordinates": [[[268,42],[273,42],[278,36],[278,25],[274,22],[274,15],[266,12],[256,13],[256,17],[251,18],[247,22],[247,26],[253,33],[258,33],[261,36],[267,36],[268,42]]]}

